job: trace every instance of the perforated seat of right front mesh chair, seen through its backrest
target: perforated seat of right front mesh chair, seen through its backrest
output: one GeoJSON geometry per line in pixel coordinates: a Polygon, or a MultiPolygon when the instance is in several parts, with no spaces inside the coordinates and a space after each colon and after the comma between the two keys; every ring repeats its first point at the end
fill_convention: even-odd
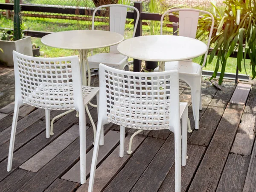
{"type": "MultiPolygon", "coordinates": [[[[124,103],[125,103],[125,105],[122,105],[122,107],[116,106],[116,107],[114,107],[115,109],[111,110],[112,114],[113,113],[116,113],[116,114],[113,114],[113,115],[108,114],[108,119],[109,119],[108,121],[110,121],[110,119],[111,119],[111,122],[115,122],[116,125],[125,126],[127,128],[144,129],[144,130],[169,129],[168,124],[161,124],[160,121],[163,120],[163,116],[169,115],[169,110],[171,110],[171,109],[165,110],[166,112],[156,111],[156,112],[152,113],[151,111],[148,111],[148,108],[150,108],[150,107],[148,107],[148,102],[147,102],[147,103],[145,103],[145,105],[143,105],[143,106],[145,106],[145,113],[140,114],[140,119],[133,119],[133,116],[138,116],[138,115],[137,115],[137,108],[134,108],[132,106],[134,106],[134,105],[136,106],[136,104],[141,106],[141,104],[143,104],[143,102],[140,102],[139,100],[137,100],[135,103],[134,101],[125,100],[124,103]],[[125,113],[128,114],[128,116],[122,116],[122,114],[120,114],[120,109],[122,112],[125,111],[125,113]],[[127,119],[125,117],[127,117],[127,119],[131,119],[131,121],[134,122],[134,126],[127,126],[127,125],[122,125],[121,123],[119,123],[120,121],[121,122],[125,121],[125,120],[127,121],[127,119]],[[149,122],[147,122],[148,120],[149,120],[149,122]],[[138,122],[140,122],[140,123],[138,123],[138,122]],[[156,122],[156,125],[155,125],[155,123],[152,123],[152,122],[156,122]],[[138,124],[141,124],[141,126],[138,124]]],[[[154,106],[156,104],[151,103],[150,105],[154,106]]],[[[166,107],[169,108],[168,107],[169,102],[159,103],[159,105],[163,105],[163,106],[165,106],[165,108],[166,107]]],[[[181,118],[183,112],[185,111],[187,105],[188,104],[186,102],[180,102],[180,118],[181,118]]],[[[128,121],[130,121],[130,120],[128,120],[128,121]]]]}

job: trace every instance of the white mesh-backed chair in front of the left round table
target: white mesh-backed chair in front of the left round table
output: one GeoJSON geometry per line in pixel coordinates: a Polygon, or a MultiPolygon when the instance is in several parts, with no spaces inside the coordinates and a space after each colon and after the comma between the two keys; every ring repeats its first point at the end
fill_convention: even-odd
{"type": "Polygon", "coordinates": [[[99,87],[82,86],[78,56],[38,58],[13,51],[13,61],[15,70],[15,108],[7,171],[9,172],[12,169],[15,132],[20,105],[28,104],[45,109],[47,138],[50,137],[50,110],[75,109],[79,111],[81,183],[85,183],[84,106],[99,92],[99,87]]]}

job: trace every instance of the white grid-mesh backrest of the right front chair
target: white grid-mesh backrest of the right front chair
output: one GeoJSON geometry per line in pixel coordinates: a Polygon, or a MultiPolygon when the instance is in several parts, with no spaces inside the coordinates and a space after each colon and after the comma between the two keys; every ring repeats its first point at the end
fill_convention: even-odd
{"type": "Polygon", "coordinates": [[[99,65],[99,118],[135,129],[180,123],[178,70],[138,73],[99,65]]]}

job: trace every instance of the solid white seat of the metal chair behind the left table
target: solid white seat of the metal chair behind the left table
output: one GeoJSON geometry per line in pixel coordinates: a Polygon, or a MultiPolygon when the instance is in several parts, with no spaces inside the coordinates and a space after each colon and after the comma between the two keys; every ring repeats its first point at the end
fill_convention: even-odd
{"type": "MultiPolygon", "coordinates": [[[[99,65],[100,63],[113,67],[127,62],[127,56],[118,53],[99,53],[88,57],[89,65],[99,65]]],[[[99,66],[98,66],[99,67],[99,66]]]]}

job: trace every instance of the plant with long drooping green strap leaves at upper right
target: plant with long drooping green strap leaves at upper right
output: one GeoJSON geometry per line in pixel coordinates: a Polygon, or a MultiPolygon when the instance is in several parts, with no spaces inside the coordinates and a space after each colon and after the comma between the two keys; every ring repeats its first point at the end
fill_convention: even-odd
{"type": "MultiPolygon", "coordinates": [[[[217,55],[217,63],[212,78],[215,78],[221,66],[219,84],[222,83],[227,58],[237,51],[237,67],[242,70],[242,61],[249,55],[252,79],[256,76],[256,1],[255,0],[225,0],[226,9],[223,14],[214,4],[213,15],[215,17],[215,28],[212,34],[212,52],[209,56],[210,64],[213,57],[217,55]],[[221,64],[221,65],[220,65],[221,64]]],[[[210,20],[202,16],[199,20],[198,38],[205,37],[209,32],[210,20]]],[[[211,79],[212,79],[211,78],[211,79]]]]}

